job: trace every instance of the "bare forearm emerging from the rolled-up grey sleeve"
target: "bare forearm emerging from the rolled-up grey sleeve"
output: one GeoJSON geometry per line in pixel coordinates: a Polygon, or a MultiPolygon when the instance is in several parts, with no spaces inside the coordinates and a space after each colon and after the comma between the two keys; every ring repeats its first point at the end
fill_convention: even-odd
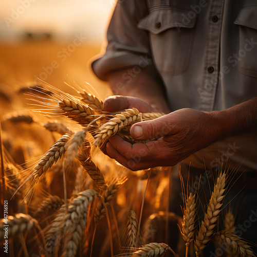
{"type": "Polygon", "coordinates": [[[137,74],[133,69],[112,72],[108,82],[114,95],[138,97],[150,103],[155,111],[170,112],[163,85],[142,70],[137,74]]]}

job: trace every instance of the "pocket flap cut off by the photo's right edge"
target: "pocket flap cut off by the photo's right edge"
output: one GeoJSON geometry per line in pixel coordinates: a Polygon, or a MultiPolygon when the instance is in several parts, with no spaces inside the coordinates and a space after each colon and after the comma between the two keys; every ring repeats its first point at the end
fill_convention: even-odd
{"type": "Polygon", "coordinates": [[[234,24],[257,29],[257,6],[243,7],[237,15],[234,24]]]}

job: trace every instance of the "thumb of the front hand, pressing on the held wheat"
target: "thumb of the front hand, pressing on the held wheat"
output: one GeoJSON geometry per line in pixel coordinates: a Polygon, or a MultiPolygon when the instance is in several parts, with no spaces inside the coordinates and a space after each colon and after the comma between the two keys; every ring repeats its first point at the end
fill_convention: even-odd
{"type": "Polygon", "coordinates": [[[134,139],[147,140],[160,138],[171,134],[171,122],[167,115],[148,121],[134,124],[130,129],[130,134],[134,139]]]}

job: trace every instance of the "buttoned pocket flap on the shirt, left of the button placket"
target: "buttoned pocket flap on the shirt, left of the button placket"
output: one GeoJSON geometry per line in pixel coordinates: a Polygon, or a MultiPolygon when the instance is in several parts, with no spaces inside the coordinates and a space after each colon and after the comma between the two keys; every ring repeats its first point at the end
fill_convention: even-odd
{"type": "Polygon", "coordinates": [[[153,34],[159,34],[169,28],[193,28],[196,16],[197,14],[192,10],[155,10],[140,20],[137,27],[153,34]]]}

